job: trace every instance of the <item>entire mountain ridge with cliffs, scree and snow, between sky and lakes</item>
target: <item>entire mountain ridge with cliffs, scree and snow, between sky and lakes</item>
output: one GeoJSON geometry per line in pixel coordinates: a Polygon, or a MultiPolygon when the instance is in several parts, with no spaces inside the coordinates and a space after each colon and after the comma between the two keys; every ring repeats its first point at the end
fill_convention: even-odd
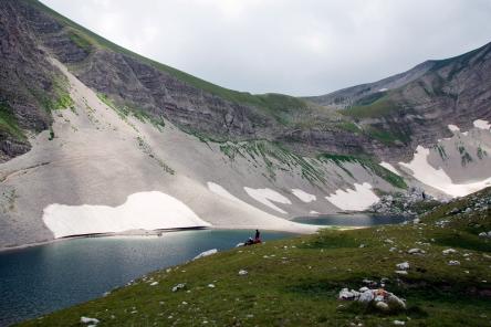
{"type": "Polygon", "coordinates": [[[489,44],[332,105],[213,85],[35,0],[0,1],[0,35],[1,247],[210,225],[312,232],[289,219],[490,182],[489,44]]]}

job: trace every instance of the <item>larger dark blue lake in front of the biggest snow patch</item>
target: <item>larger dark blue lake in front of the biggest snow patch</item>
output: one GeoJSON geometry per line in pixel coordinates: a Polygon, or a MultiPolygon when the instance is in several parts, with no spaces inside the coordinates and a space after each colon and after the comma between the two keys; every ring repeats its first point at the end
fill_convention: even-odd
{"type": "MultiPolygon", "coordinates": [[[[254,231],[182,231],[160,238],[90,238],[0,253],[0,326],[100,297],[148,272],[226,250],[254,231]]],[[[292,236],[263,232],[263,240],[292,236]]]]}

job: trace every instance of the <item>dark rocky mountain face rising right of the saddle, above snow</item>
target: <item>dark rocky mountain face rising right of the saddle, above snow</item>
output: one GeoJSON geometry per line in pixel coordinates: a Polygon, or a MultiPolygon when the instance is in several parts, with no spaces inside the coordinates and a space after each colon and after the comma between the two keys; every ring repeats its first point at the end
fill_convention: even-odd
{"type": "Polygon", "coordinates": [[[318,97],[317,104],[343,108],[364,129],[375,128],[388,143],[403,141],[387,159],[409,160],[418,145],[450,137],[448,125],[463,129],[491,118],[491,43],[469,53],[428,61],[375,83],[318,97]]]}

